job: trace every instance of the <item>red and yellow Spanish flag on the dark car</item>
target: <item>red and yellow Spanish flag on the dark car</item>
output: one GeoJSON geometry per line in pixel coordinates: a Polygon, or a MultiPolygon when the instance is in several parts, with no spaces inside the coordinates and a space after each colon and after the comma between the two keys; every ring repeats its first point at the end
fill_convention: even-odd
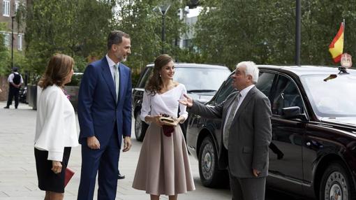
{"type": "Polygon", "coordinates": [[[341,55],[343,54],[343,31],[345,29],[345,23],[342,22],[339,31],[337,32],[334,40],[329,45],[329,52],[332,54],[332,59],[335,63],[341,61],[341,55]]]}

